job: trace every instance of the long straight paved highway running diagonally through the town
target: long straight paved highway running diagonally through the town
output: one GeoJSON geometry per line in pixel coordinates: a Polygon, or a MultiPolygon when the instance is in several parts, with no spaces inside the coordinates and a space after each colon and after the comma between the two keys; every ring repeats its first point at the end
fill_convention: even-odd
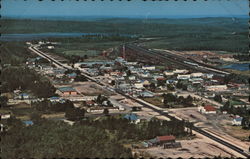
{"type": "MultiPolygon", "coordinates": [[[[34,53],[38,54],[39,56],[42,55],[41,57],[46,58],[46,59],[49,60],[49,61],[52,61],[53,63],[59,65],[60,67],[63,67],[63,68],[66,68],[66,69],[72,69],[70,66],[66,66],[65,64],[62,64],[62,63],[56,61],[55,59],[53,59],[52,57],[47,56],[45,53],[39,51],[39,50],[37,49],[37,47],[38,47],[38,45],[36,45],[36,46],[31,45],[31,46],[29,47],[29,49],[30,49],[31,51],[33,51],[34,53]]],[[[101,83],[100,81],[94,79],[93,77],[90,77],[90,76],[87,75],[86,73],[82,73],[82,75],[84,75],[84,76],[85,76],[86,78],[88,78],[89,80],[91,80],[91,81],[93,81],[93,82],[96,82],[97,84],[99,84],[99,85],[102,86],[102,87],[105,86],[104,88],[113,89],[112,87],[107,86],[107,85],[104,85],[103,83],[101,83]]],[[[116,93],[117,93],[117,94],[120,94],[120,95],[122,95],[122,96],[124,96],[124,97],[126,97],[126,98],[128,98],[128,99],[134,100],[134,101],[136,101],[137,103],[143,105],[144,107],[149,108],[149,109],[151,109],[151,110],[153,110],[153,111],[155,111],[155,112],[157,112],[157,113],[159,113],[159,114],[161,114],[161,115],[163,115],[163,116],[165,116],[165,117],[167,117],[167,118],[169,118],[169,119],[171,119],[171,120],[178,120],[178,121],[181,121],[181,120],[182,120],[182,119],[177,119],[176,117],[173,117],[173,116],[169,115],[167,112],[165,112],[164,110],[160,109],[159,107],[154,106],[154,105],[152,105],[152,104],[149,104],[149,103],[147,103],[147,102],[145,102],[145,101],[143,101],[143,100],[141,100],[141,99],[139,99],[139,98],[134,98],[134,97],[132,97],[132,96],[130,96],[130,95],[126,95],[126,94],[124,94],[124,93],[122,93],[122,92],[118,92],[118,91],[116,91],[116,93]]],[[[230,148],[231,150],[234,150],[234,151],[238,152],[239,154],[241,154],[241,155],[244,156],[244,157],[247,157],[247,158],[250,157],[250,155],[249,155],[247,152],[245,152],[245,151],[242,150],[241,148],[237,147],[236,145],[233,145],[233,144],[231,144],[231,143],[229,143],[229,142],[227,142],[227,141],[225,141],[225,140],[222,140],[222,139],[220,139],[219,137],[216,137],[216,136],[214,136],[214,135],[212,135],[212,134],[210,134],[210,133],[208,133],[208,132],[202,130],[201,128],[198,128],[198,127],[195,127],[195,126],[194,126],[194,127],[193,127],[193,130],[196,131],[196,132],[198,132],[198,133],[200,133],[200,134],[202,134],[202,135],[204,135],[204,136],[206,136],[206,137],[208,137],[208,138],[210,138],[210,139],[212,139],[212,140],[214,140],[214,141],[216,141],[216,142],[218,142],[218,143],[220,143],[220,144],[222,144],[222,145],[224,145],[224,146],[227,146],[227,147],[230,148]]]]}

